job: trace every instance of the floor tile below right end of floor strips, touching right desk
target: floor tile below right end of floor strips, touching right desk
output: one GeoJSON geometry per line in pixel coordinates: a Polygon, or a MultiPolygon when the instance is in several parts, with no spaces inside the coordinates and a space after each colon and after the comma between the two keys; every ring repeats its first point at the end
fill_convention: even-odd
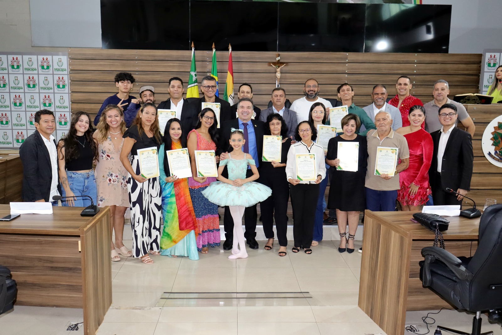
{"type": "Polygon", "coordinates": [[[312,306],[317,322],[372,322],[357,306],[312,306]]]}

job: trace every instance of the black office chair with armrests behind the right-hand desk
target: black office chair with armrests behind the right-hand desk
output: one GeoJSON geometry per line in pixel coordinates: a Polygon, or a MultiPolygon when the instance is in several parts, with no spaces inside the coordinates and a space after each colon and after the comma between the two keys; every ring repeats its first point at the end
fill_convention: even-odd
{"type": "MultiPolygon", "coordinates": [[[[456,258],[437,246],[422,249],[425,261],[420,262],[420,280],[443,299],[469,312],[476,312],[472,333],[437,326],[441,330],[460,335],[488,335],[481,333],[481,311],[491,310],[497,315],[502,308],[502,204],[486,208],[479,220],[479,241],[474,256],[456,258]]],[[[491,317],[490,317],[491,318],[491,317]]]]}

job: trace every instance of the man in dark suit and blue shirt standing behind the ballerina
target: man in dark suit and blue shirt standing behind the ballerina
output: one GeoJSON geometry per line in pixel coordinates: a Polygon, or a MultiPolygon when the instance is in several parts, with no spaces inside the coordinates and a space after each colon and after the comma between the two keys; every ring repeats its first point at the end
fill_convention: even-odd
{"type": "MultiPolygon", "coordinates": [[[[264,135],[264,123],[259,120],[252,120],[251,115],[253,115],[253,101],[248,98],[242,98],[237,103],[237,113],[238,118],[235,120],[230,120],[224,122],[220,129],[220,141],[219,149],[216,154],[220,154],[220,160],[228,158],[227,150],[232,152],[233,148],[229,145],[231,128],[242,129],[244,131],[244,139],[246,140],[249,154],[253,157],[256,163],[256,167],[260,167],[260,162],[263,153],[263,135],[264,135]],[[244,129],[244,127],[246,129],[244,129]],[[247,132],[246,132],[247,130],[247,132]],[[246,138],[247,136],[247,138],[246,138]]],[[[244,150],[244,147],[242,147],[244,150]]],[[[225,170],[222,175],[224,177],[228,176],[225,170]]],[[[247,169],[246,178],[253,175],[251,169],[247,169]]],[[[258,249],[258,242],[256,241],[256,220],[257,220],[256,205],[246,207],[244,211],[244,224],[246,230],[244,232],[244,237],[246,238],[247,244],[250,248],[258,249]]],[[[233,220],[230,215],[230,209],[225,207],[225,216],[223,217],[223,224],[225,227],[225,242],[223,243],[223,249],[229,250],[232,248],[233,242],[233,220]]]]}

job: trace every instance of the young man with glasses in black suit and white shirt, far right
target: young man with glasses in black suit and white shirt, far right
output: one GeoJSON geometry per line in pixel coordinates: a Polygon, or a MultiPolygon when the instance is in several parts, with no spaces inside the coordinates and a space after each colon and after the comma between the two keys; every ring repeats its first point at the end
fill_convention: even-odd
{"type": "Polygon", "coordinates": [[[470,190],[474,161],[472,141],[468,132],[455,127],[457,117],[457,107],[444,104],[439,108],[439,122],[443,127],[431,133],[434,153],[429,183],[434,205],[461,205],[463,196],[470,190]],[[447,192],[446,188],[461,195],[447,192]]]}

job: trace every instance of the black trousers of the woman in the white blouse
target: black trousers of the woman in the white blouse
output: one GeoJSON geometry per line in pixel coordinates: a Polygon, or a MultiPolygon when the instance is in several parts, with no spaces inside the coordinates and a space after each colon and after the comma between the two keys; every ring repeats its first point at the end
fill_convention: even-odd
{"type": "Polygon", "coordinates": [[[315,211],[319,197],[319,184],[291,185],[293,207],[293,239],[295,246],[308,249],[314,235],[315,211]]]}

